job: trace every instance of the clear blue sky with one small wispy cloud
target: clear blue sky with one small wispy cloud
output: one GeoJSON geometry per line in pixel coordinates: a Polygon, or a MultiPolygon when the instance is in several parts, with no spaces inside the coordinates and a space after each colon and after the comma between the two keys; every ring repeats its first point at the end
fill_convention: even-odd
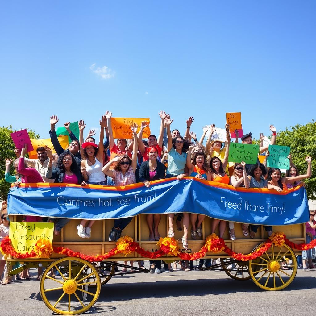
{"type": "MultiPolygon", "coordinates": [[[[315,1],[15,1],[0,11],[0,125],[158,112],[269,134],[315,119],[315,1]],[[8,113],[10,111],[10,113],[8,113]]],[[[59,124],[58,124],[59,125],[59,124]]],[[[60,124],[62,125],[62,124],[60,124]]]]}

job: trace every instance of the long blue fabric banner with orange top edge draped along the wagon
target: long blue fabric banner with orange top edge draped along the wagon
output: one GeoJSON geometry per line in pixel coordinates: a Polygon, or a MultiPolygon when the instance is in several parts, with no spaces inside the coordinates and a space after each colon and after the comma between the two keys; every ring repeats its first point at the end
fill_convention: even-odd
{"type": "Polygon", "coordinates": [[[138,214],[190,212],[225,221],[264,225],[299,224],[309,220],[304,187],[278,193],[187,177],[123,188],[90,185],[21,184],[11,187],[8,212],[79,219],[110,219],[138,214]]]}

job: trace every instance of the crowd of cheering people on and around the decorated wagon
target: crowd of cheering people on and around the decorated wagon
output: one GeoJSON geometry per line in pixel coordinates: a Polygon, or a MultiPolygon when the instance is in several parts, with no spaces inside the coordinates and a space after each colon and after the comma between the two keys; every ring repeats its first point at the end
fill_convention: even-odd
{"type": "MultiPolygon", "coordinates": [[[[290,168],[284,176],[278,168],[267,168],[266,159],[263,163],[257,160],[255,164],[246,164],[241,161],[232,163],[228,161],[229,147],[231,144],[229,129],[226,124],[226,141],[213,139],[212,135],[216,131],[215,125],[203,127],[201,139],[198,141],[196,133],[190,131],[191,124],[194,121],[190,117],[186,121],[186,130],[183,136],[178,129],[171,129],[173,119],[164,111],[159,112],[161,119],[158,137],[150,135],[147,140],[143,140],[143,131],[148,123],[143,121],[141,126],[132,123],[130,126],[132,138],[126,140],[119,138],[115,142],[111,127],[111,112],[106,112],[100,119],[100,136],[98,141],[93,137],[95,132],[90,130],[84,138],[84,121],[78,122],[79,139],[70,131],[70,122],[66,122],[64,127],[69,133],[71,143],[68,149],[64,149],[59,141],[55,131],[55,125],[59,119],[53,115],[50,118],[50,138],[55,150],[45,146],[36,149],[37,159],[28,159],[27,145],[21,149],[21,152],[15,148],[17,158],[12,161],[6,159],[5,180],[20,186],[21,183],[33,182],[55,182],[94,185],[115,185],[124,186],[142,182],[149,188],[151,181],[176,177],[181,181],[185,176],[196,177],[200,180],[214,181],[218,183],[230,184],[234,187],[248,188],[267,188],[278,192],[288,191],[288,188],[298,185],[303,179],[311,177],[311,157],[307,157],[307,172],[299,174],[297,167],[289,155],[290,168]],[[137,133],[138,128],[140,130],[137,133]],[[206,134],[209,137],[204,145],[206,134]],[[105,139],[104,139],[105,138],[105,139]],[[10,166],[13,164],[15,173],[10,173],[10,166]]],[[[271,144],[276,143],[276,128],[270,125],[272,137],[271,144]]],[[[235,130],[235,143],[239,142],[238,130],[235,130]]],[[[260,134],[259,154],[265,152],[265,158],[270,153],[268,145],[263,145],[264,135],[260,134]]],[[[241,143],[251,144],[252,133],[244,134],[241,137],[241,143]]],[[[312,212],[311,212],[312,214],[312,212]]],[[[195,240],[202,236],[202,223],[204,215],[197,215],[188,212],[181,214],[168,214],[168,236],[174,236],[174,218],[176,217],[176,228],[182,230],[182,246],[188,249],[188,234],[191,233],[191,239],[195,240]]],[[[313,219],[313,214],[311,219],[313,219]]],[[[114,225],[108,236],[109,241],[117,241],[122,230],[131,222],[132,217],[115,219],[114,225]]],[[[161,214],[149,214],[146,216],[149,228],[149,241],[159,240],[159,223],[161,214]]],[[[0,238],[8,234],[8,219],[5,214],[1,215],[0,238]],[[2,218],[3,217],[3,218],[2,218]]],[[[26,222],[40,222],[43,218],[39,216],[26,216],[26,222]]],[[[69,222],[69,219],[51,218],[54,222],[54,234],[58,235],[61,229],[69,222]]],[[[91,229],[93,229],[93,220],[82,220],[77,226],[77,233],[82,238],[90,238],[91,229]]],[[[310,234],[315,238],[316,222],[307,223],[310,234]],[[312,232],[313,230],[313,232],[312,232]]],[[[226,228],[229,228],[229,237],[235,240],[235,223],[226,222],[219,219],[213,219],[211,232],[215,233],[219,228],[219,236],[223,237],[226,228]]],[[[258,230],[258,225],[241,224],[245,237],[254,238],[258,230]]],[[[271,226],[264,226],[270,235],[271,226]]],[[[311,237],[312,238],[312,237],[311,237]]],[[[154,264],[154,263],[153,263],[154,264]]],[[[211,263],[206,262],[206,265],[211,263]]],[[[309,254],[303,254],[303,265],[310,264],[309,254]],[[307,257],[307,258],[305,258],[307,257]],[[305,260],[305,261],[304,261],[305,260]]],[[[156,263],[157,265],[157,263],[156,263]]],[[[313,266],[313,265],[312,265],[313,266]]],[[[3,259],[0,262],[0,274],[3,270],[3,259]]],[[[189,269],[184,264],[185,269],[189,269]]],[[[165,267],[165,270],[167,267],[165,267]]],[[[161,269],[158,269],[161,270],[161,269]]],[[[23,276],[25,277],[25,276],[23,276]]]]}

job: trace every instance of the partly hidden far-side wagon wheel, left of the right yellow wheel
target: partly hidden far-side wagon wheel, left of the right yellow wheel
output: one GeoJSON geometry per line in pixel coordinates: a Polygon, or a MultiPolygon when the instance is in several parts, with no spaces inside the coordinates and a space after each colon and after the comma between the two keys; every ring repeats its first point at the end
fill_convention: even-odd
{"type": "Polygon", "coordinates": [[[248,261],[237,261],[233,258],[221,258],[221,264],[224,272],[234,280],[250,280],[248,261]]]}

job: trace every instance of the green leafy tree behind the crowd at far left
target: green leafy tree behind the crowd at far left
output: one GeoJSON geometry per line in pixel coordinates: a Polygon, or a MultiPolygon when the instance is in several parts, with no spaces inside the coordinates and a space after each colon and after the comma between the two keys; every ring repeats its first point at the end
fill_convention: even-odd
{"type": "MultiPolygon", "coordinates": [[[[4,179],[5,172],[5,158],[11,158],[15,160],[14,143],[11,138],[11,133],[15,132],[12,126],[0,127],[0,199],[6,200],[11,183],[8,183],[4,179]]],[[[39,139],[40,135],[35,134],[33,130],[28,129],[28,134],[32,139],[39,139]]],[[[14,173],[14,168],[11,166],[11,174],[14,173]]]]}

